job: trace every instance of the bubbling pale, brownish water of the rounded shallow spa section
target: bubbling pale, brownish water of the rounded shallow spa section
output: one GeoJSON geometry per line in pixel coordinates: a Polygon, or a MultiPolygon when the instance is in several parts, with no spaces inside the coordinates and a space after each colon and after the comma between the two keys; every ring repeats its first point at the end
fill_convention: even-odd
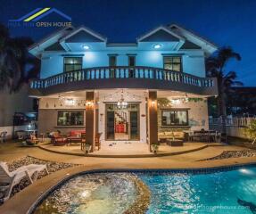
{"type": "Polygon", "coordinates": [[[136,200],[132,180],[130,175],[112,173],[72,178],[49,195],[34,213],[123,213],[136,200]]]}

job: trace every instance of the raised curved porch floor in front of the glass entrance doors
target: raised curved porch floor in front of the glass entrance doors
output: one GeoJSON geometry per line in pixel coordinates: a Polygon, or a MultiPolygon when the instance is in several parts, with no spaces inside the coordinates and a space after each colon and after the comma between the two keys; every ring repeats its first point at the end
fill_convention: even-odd
{"type": "MultiPolygon", "coordinates": [[[[111,143],[110,143],[111,144],[111,143]]],[[[149,152],[148,144],[142,143],[117,143],[112,144],[102,144],[99,151],[88,153],[87,157],[113,157],[113,158],[143,158],[143,157],[153,157],[153,156],[169,156],[175,154],[181,154],[186,152],[195,152],[202,150],[209,145],[220,145],[217,143],[207,144],[207,143],[185,143],[183,146],[169,146],[167,144],[161,144],[159,146],[159,151],[157,154],[149,152]]],[[[64,146],[54,146],[53,144],[45,144],[39,146],[48,152],[56,152],[62,154],[71,154],[84,156],[85,152],[81,151],[80,144],[71,144],[64,146]]]]}

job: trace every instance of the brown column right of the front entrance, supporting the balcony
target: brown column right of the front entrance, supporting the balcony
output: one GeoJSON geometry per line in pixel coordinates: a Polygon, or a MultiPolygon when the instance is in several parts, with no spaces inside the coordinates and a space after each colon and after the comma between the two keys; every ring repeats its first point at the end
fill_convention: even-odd
{"type": "Polygon", "coordinates": [[[148,136],[149,149],[151,144],[158,144],[158,121],[157,121],[157,92],[148,93],[148,136]]]}

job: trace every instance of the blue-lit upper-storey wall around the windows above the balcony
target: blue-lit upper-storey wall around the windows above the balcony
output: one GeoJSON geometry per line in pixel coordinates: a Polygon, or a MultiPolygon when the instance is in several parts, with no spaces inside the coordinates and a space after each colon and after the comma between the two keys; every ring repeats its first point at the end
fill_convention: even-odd
{"type": "Polygon", "coordinates": [[[109,66],[109,54],[117,55],[117,65],[128,65],[128,54],[136,54],[137,66],[149,66],[163,68],[162,54],[182,54],[183,72],[193,74],[198,77],[205,77],[204,54],[202,50],[189,50],[180,52],[168,51],[131,51],[131,50],[111,50],[98,52],[80,53],[43,53],[41,58],[40,78],[48,78],[63,72],[63,54],[84,54],[83,68],[109,66]]]}

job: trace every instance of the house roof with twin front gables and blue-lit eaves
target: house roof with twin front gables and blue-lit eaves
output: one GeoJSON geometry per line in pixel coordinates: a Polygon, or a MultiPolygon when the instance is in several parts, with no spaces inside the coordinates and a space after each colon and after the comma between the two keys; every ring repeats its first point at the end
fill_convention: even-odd
{"type": "Polygon", "coordinates": [[[202,49],[206,55],[215,52],[218,47],[210,41],[197,36],[194,32],[184,29],[177,24],[159,26],[152,29],[142,37],[136,39],[134,44],[108,44],[107,38],[84,26],[74,28],[68,27],[58,30],[54,34],[43,38],[38,43],[29,46],[29,53],[39,57],[43,51],[67,51],[67,43],[105,43],[106,47],[114,46],[136,46],[138,43],[146,42],[174,42],[176,50],[202,49]]]}

